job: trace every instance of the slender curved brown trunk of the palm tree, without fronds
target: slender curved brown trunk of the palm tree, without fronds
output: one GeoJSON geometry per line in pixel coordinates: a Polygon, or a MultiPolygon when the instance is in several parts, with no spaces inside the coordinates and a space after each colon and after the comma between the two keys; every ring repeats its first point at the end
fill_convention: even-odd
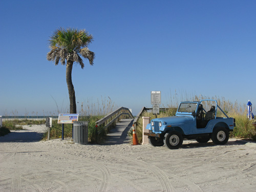
{"type": "Polygon", "coordinates": [[[73,61],[67,61],[66,67],[66,81],[69,90],[69,101],[70,101],[70,113],[76,114],[76,97],[75,97],[75,90],[72,83],[72,68],[73,68],[73,61]]]}

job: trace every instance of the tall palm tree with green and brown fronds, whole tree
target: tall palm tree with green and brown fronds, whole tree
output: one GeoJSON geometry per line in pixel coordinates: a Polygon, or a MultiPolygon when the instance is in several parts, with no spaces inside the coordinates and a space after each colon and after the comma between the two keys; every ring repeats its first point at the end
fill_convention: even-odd
{"type": "Polygon", "coordinates": [[[95,54],[87,48],[90,42],[93,41],[93,36],[89,35],[84,29],[68,28],[65,30],[59,28],[53,33],[49,41],[51,51],[47,53],[47,59],[53,61],[55,65],[58,65],[59,61],[61,65],[65,65],[65,61],[67,61],[66,80],[69,90],[70,113],[76,114],[76,97],[72,83],[73,63],[79,63],[83,69],[82,56],[89,60],[90,65],[93,65],[95,54]]]}

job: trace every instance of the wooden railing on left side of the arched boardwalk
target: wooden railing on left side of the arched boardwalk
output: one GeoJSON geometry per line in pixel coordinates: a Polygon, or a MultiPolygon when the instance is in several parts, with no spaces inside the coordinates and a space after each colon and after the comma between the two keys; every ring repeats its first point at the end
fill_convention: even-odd
{"type": "Polygon", "coordinates": [[[106,115],[102,119],[95,122],[96,126],[99,126],[104,123],[104,129],[110,126],[113,122],[115,122],[120,116],[128,115],[131,119],[133,119],[133,115],[128,108],[121,107],[118,110],[106,115]]]}

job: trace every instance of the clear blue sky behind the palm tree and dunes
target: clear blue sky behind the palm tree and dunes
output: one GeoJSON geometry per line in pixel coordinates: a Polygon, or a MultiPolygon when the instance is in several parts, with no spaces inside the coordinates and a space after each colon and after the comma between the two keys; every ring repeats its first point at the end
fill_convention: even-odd
{"type": "Polygon", "coordinates": [[[46,59],[59,27],[94,37],[94,66],[73,67],[78,112],[102,97],[136,115],[151,91],[167,105],[175,90],[256,107],[255,10],[254,0],[1,1],[0,115],[67,112],[66,66],[46,59]]]}

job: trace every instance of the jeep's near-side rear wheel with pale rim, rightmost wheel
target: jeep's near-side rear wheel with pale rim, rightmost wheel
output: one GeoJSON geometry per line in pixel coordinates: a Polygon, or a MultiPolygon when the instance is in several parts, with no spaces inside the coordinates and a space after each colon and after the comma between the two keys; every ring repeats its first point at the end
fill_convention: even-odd
{"type": "Polygon", "coordinates": [[[224,145],[229,139],[229,132],[224,127],[217,127],[211,134],[211,140],[217,145],[224,145]]]}

